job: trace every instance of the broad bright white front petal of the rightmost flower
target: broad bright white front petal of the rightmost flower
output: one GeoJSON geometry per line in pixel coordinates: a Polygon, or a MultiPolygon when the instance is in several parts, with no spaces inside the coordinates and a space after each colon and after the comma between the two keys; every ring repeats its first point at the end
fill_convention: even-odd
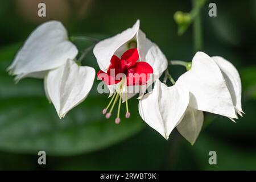
{"type": "Polygon", "coordinates": [[[197,52],[191,70],[176,81],[190,93],[189,106],[197,110],[237,118],[232,98],[218,65],[204,52],[197,52]]]}

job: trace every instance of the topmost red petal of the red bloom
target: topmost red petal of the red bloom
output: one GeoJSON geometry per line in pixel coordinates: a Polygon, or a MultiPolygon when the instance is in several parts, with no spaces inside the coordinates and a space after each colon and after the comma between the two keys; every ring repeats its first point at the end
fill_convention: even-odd
{"type": "Polygon", "coordinates": [[[139,53],[137,48],[133,49],[128,49],[123,53],[121,56],[121,60],[123,61],[123,64],[126,65],[127,68],[133,67],[134,64],[138,61],[139,59],[139,53]]]}

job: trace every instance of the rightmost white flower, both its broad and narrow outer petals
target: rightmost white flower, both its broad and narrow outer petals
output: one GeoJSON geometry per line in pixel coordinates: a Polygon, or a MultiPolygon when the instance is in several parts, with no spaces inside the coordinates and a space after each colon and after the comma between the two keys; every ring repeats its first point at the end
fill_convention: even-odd
{"type": "Polygon", "coordinates": [[[220,56],[209,57],[197,52],[191,70],[176,81],[190,93],[189,106],[193,109],[224,115],[234,121],[242,116],[241,80],[237,69],[220,56]]]}

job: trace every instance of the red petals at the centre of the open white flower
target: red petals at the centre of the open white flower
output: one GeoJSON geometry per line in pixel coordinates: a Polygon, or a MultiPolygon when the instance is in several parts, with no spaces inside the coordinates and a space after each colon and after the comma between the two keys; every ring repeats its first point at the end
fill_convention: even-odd
{"type": "Polygon", "coordinates": [[[129,49],[119,57],[113,55],[107,72],[99,71],[97,77],[105,82],[106,85],[117,84],[122,80],[122,75],[126,76],[127,86],[144,85],[153,73],[150,64],[139,61],[137,48],[129,49]],[[122,75],[120,75],[122,73],[122,75]],[[119,74],[119,75],[118,75],[119,74]]]}

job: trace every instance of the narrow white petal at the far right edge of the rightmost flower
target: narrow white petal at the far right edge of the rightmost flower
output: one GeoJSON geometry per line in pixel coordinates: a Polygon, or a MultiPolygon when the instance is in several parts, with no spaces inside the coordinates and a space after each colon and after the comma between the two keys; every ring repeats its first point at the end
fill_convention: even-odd
{"type": "Polygon", "coordinates": [[[217,63],[218,67],[221,70],[221,73],[226,81],[226,86],[228,86],[237,113],[242,116],[242,86],[241,79],[237,69],[234,67],[232,63],[230,63],[228,60],[225,60],[223,57],[213,56],[212,59],[215,61],[215,63],[217,63]]]}

